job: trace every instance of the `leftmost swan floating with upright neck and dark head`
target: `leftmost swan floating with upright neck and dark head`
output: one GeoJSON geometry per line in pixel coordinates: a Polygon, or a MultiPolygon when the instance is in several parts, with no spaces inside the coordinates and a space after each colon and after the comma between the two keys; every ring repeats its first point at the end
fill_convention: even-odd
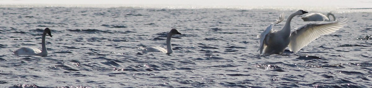
{"type": "Polygon", "coordinates": [[[49,28],[45,28],[44,33],[42,35],[41,39],[41,47],[42,50],[40,51],[38,48],[33,48],[33,47],[22,47],[19,48],[18,50],[14,51],[13,53],[15,55],[38,55],[38,56],[47,56],[48,51],[47,47],[45,47],[45,36],[49,34],[50,37],[52,37],[52,34],[50,33],[49,28]]]}

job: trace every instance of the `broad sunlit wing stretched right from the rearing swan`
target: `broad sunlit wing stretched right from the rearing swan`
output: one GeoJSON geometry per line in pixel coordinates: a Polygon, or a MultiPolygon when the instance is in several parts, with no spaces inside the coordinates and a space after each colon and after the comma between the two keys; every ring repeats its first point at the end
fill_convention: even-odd
{"type": "Polygon", "coordinates": [[[333,23],[309,23],[302,27],[296,28],[289,37],[289,50],[296,54],[299,50],[301,50],[302,47],[305,47],[311,43],[311,41],[314,41],[320,37],[320,35],[330,34],[344,27],[346,22],[347,20],[345,18],[341,21],[333,23]]]}

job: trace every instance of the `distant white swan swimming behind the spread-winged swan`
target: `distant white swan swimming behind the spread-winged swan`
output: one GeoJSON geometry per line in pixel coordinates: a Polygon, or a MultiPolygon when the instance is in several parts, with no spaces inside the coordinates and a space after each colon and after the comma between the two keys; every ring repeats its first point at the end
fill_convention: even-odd
{"type": "Polygon", "coordinates": [[[336,21],[336,17],[332,13],[328,13],[327,16],[321,13],[310,13],[305,17],[301,17],[304,21],[336,21]],[[329,16],[333,17],[333,20],[329,18],[329,16]]]}

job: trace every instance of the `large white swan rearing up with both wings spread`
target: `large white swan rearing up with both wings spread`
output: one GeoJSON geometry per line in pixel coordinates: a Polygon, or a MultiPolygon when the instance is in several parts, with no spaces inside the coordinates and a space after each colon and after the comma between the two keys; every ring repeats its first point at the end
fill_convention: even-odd
{"type": "Polygon", "coordinates": [[[320,37],[320,35],[330,34],[339,30],[346,25],[346,19],[333,23],[309,23],[295,28],[291,33],[291,20],[296,15],[302,15],[308,13],[304,10],[298,10],[291,14],[282,30],[272,30],[275,24],[280,23],[284,20],[284,14],[280,14],[279,19],[266,27],[260,35],[257,37],[260,39],[260,46],[257,51],[260,51],[260,55],[271,55],[271,54],[283,54],[285,48],[288,46],[289,51],[296,54],[302,47],[305,47],[311,41],[320,37]],[[264,53],[262,54],[262,51],[264,53]]]}

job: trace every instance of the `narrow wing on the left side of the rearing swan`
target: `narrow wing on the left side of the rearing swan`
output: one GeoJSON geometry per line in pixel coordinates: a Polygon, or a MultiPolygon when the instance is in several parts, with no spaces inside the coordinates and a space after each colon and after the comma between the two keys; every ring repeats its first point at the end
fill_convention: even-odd
{"type": "Polygon", "coordinates": [[[260,54],[262,54],[263,49],[266,47],[264,45],[264,40],[269,40],[269,33],[272,31],[273,27],[275,24],[278,24],[284,20],[284,13],[280,14],[279,19],[276,19],[275,23],[270,24],[269,26],[266,27],[266,29],[260,34],[257,35],[257,38],[260,38],[260,47],[257,51],[260,51],[260,54]]]}

